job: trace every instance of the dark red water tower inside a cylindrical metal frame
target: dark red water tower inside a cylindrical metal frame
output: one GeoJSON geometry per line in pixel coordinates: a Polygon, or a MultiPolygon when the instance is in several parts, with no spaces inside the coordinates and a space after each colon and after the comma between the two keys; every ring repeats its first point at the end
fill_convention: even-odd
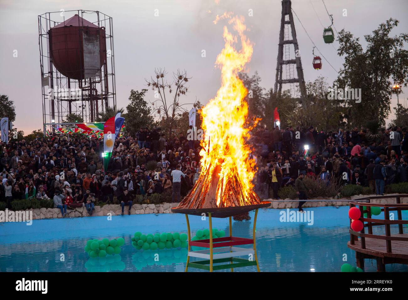
{"type": "Polygon", "coordinates": [[[95,122],[116,106],[112,18],[100,11],[38,16],[44,131],[81,115],[95,122]]]}

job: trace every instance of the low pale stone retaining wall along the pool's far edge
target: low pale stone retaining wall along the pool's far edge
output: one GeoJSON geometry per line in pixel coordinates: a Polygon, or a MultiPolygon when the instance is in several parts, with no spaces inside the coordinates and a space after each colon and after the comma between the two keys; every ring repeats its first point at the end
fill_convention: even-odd
{"type": "MultiPolygon", "coordinates": [[[[397,194],[395,194],[397,195],[397,194]]],[[[375,196],[375,195],[369,195],[369,196],[375,196]]],[[[352,196],[350,198],[342,198],[342,199],[334,199],[334,198],[329,198],[329,200],[355,200],[357,198],[362,198],[362,197],[367,197],[363,195],[359,196],[352,196]]],[[[313,200],[320,200],[322,201],[314,201],[314,202],[306,202],[303,207],[325,207],[325,206],[344,206],[344,205],[349,205],[348,202],[341,202],[341,201],[324,201],[328,200],[327,198],[322,198],[322,197],[317,197],[314,198],[313,200]]],[[[271,200],[271,199],[269,199],[271,200]]],[[[286,208],[297,208],[298,202],[296,201],[290,201],[291,199],[285,199],[289,200],[287,202],[279,202],[279,201],[274,201],[271,200],[271,206],[267,208],[273,208],[273,209],[286,209],[286,208]]],[[[373,199],[373,203],[381,203],[381,204],[392,204],[395,203],[394,198],[390,199],[373,199]]],[[[406,203],[408,204],[408,198],[401,198],[401,203],[406,203]]],[[[133,204],[132,209],[131,209],[131,214],[145,214],[145,213],[172,213],[171,208],[176,207],[178,203],[161,203],[161,204],[133,204]]],[[[27,209],[33,211],[33,219],[49,219],[49,218],[61,218],[61,210],[58,208],[40,208],[40,209],[27,209]]],[[[86,212],[85,207],[77,207],[73,210],[67,210],[67,217],[86,217],[89,216],[88,213],[86,212]]],[[[107,216],[108,213],[111,213],[112,216],[115,215],[120,215],[122,213],[122,209],[119,204],[106,204],[103,207],[100,206],[95,206],[95,211],[93,212],[93,216],[107,216]]],[[[124,213],[127,215],[128,213],[128,207],[126,206],[124,208],[124,213]]]]}

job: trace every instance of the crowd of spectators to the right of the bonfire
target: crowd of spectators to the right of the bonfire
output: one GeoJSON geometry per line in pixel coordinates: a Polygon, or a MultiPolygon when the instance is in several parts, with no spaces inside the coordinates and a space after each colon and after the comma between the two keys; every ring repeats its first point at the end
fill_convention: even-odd
{"type": "MultiPolygon", "coordinates": [[[[261,167],[255,187],[261,198],[279,199],[282,187],[292,185],[299,200],[306,200],[304,176],[331,184],[370,187],[384,195],[387,184],[407,182],[408,136],[406,128],[392,127],[371,135],[366,129],[302,131],[287,127],[258,129],[253,135],[261,167]]],[[[299,210],[302,210],[299,202],[299,210]]]]}

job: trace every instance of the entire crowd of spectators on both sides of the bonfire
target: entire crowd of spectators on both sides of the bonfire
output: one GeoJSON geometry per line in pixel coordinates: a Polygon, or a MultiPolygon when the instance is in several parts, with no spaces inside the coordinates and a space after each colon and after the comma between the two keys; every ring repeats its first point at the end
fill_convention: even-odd
{"type": "MultiPolygon", "coordinates": [[[[258,165],[255,189],[262,199],[279,199],[279,189],[292,185],[299,200],[306,200],[302,180],[308,176],[327,184],[337,178],[342,185],[367,186],[383,195],[386,184],[408,181],[406,133],[400,127],[376,136],[357,128],[325,133],[313,127],[260,127],[248,141],[258,165]]],[[[86,136],[2,143],[0,201],[11,209],[12,200],[52,199],[62,215],[82,206],[92,215],[96,201],[113,203],[115,196],[122,214],[125,206],[130,214],[136,195],[160,193],[180,202],[200,174],[200,142],[187,140],[186,133],[168,138],[160,128],[143,128],[134,137],[120,137],[106,172],[102,152],[103,142],[86,136]]]]}

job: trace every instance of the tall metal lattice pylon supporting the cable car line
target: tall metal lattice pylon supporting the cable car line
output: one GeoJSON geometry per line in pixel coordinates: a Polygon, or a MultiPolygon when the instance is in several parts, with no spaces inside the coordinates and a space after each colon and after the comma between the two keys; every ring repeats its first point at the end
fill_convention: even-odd
{"type": "Polygon", "coordinates": [[[306,98],[302,60],[299,55],[299,45],[297,44],[295,24],[293,23],[292,2],[290,0],[282,0],[282,18],[276,61],[275,93],[280,95],[282,93],[282,84],[290,84],[292,96],[298,98],[298,93],[295,89],[295,84],[297,83],[299,84],[301,100],[306,98]],[[293,58],[291,58],[290,45],[293,45],[293,58]],[[285,78],[282,78],[283,65],[285,65],[285,78]],[[295,66],[297,78],[295,78],[295,66]]]}

